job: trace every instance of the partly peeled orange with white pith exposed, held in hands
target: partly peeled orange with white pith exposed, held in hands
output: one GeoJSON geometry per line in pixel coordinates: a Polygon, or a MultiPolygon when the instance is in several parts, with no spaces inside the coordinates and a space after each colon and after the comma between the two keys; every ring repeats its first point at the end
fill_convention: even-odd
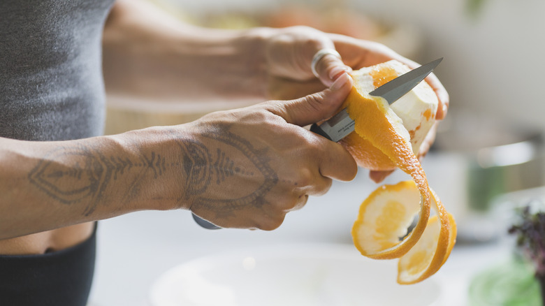
{"type": "MultiPolygon", "coordinates": [[[[435,112],[437,112],[439,103],[430,85],[426,82],[420,82],[419,85],[416,85],[414,89],[392,105],[388,105],[386,101],[379,100],[377,97],[368,94],[375,88],[409,70],[410,68],[406,65],[392,60],[353,71],[351,77],[354,79],[354,88],[342,108],[348,107],[349,114],[357,114],[358,117],[361,117],[358,120],[360,123],[363,120],[374,122],[377,118],[363,111],[363,108],[367,108],[369,103],[359,103],[358,101],[363,99],[375,101],[376,106],[386,115],[391,129],[394,130],[398,137],[410,143],[409,147],[418,156],[424,138],[426,138],[428,131],[435,123],[435,112]]],[[[356,121],[356,124],[358,124],[358,121],[356,121]]],[[[375,131],[388,133],[388,131],[380,131],[380,129],[375,129],[375,131]]],[[[393,170],[397,168],[387,154],[370,143],[367,137],[357,133],[357,131],[349,134],[340,143],[351,152],[358,166],[370,170],[393,170]]]]}

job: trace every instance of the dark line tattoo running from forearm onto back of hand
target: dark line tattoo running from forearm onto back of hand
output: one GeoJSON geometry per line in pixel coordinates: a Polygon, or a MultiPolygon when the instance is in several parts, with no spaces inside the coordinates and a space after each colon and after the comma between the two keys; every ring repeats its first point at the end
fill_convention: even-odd
{"type": "Polygon", "coordinates": [[[278,182],[277,173],[269,165],[267,149],[257,150],[248,140],[229,131],[228,126],[220,126],[217,133],[206,133],[205,138],[208,141],[203,143],[179,137],[179,150],[168,158],[155,151],[131,158],[106,156],[98,148],[81,143],[59,147],[45,154],[29,173],[28,180],[60,203],[87,203],[85,216],[105,201],[113,181],[131,180],[123,196],[124,201],[130,201],[140,194],[145,179],[157,180],[168,171],[181,171],[184,175],[180,185],[184,192],[177,199],[179,203],[189,202],[215,211],[217,217],[231,217],[233,212],[249,205],[265,205],[266,194],[278,182]],[[67,160],[71,164],[66,164],[67,160]],[[234,187],[237,175],[253,177],[259,186],[248,194],[231,198],[207,192],[212,185],[234,187]]]}

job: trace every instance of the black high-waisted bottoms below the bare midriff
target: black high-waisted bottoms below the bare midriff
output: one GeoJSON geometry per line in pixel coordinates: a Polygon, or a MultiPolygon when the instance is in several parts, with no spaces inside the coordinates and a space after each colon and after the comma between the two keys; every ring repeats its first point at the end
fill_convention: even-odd
{"type": "Polygon", "coordinates": [[[87,305],[96,254],[89,239],[57,252],[0,255],[0,305],[87,305]]]}

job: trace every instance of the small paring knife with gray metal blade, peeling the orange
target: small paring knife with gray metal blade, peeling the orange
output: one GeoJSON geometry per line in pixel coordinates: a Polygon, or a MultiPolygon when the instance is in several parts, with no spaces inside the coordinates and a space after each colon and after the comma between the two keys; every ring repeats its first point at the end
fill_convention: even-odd
{"type": "MultiPolygon", "coordinates": [[[[425,79],[433,69],[439,65],[442,59],[442,57],[440,59],[435,59],[435,61],[430,61],[426,65],[422,65],[419,68],[415,68],[412,71],[402,74],[373,90],[369,94],[371,96],[382,96],[382,98],[388,101],[388,104],[392,104],[425,79]]],[[[310,131],[336,143],[354,131],[355,125],[354,120],[349,117],[347,109],[344,108],[323,124],[312,124],[312,126],[310,126],[310,131]]]]}

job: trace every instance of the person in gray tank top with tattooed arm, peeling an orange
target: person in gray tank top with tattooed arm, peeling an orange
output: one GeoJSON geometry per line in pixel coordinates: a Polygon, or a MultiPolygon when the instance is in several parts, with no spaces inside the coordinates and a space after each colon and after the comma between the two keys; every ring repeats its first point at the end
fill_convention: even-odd
{"type": "MultiPolygon", "coordinates": [[[[97,220],[183,209],[221,227],[277,228],[356,175],[341,145],[305,129],[340,107],[347,72],[417,66],[379,43],[309,27],[204,29],[136,0],[5,0],[0,15],[2,305],[85,305],[97,220]],[[105,92],[264,102],[103,136],[105,92]]],[[[427,81],[442,119],[448,94],[427,81]]]]}

